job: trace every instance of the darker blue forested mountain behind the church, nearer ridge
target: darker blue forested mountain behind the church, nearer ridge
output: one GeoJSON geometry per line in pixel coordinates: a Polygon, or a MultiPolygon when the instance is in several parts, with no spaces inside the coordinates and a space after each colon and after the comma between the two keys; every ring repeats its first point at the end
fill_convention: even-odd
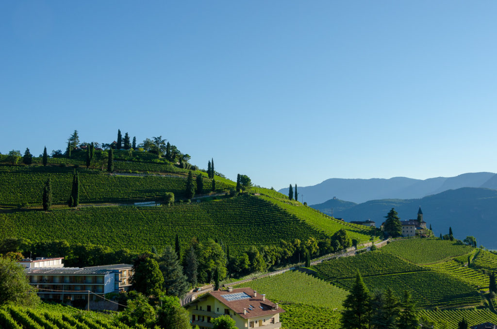
{"type": "Polygon", "coordinates": [[[478,245],[497,249],[497,191],[493,189],[464,187],[420,199],[384,199],[360,204],[338,201],[329,200],[311,207],[331,214],[327,210],[330,205],[346,205],[332,207],[334,217],[347,222],[371,219],[379,227],[390,209],[395,208],[399,217],[405,220],[415,219],[421,206],[423,218],[428,226],[432,225],[436,236],[448,234],[452,227],[457,239],[464,240],[472,235],[477,238],[478,245]]]}

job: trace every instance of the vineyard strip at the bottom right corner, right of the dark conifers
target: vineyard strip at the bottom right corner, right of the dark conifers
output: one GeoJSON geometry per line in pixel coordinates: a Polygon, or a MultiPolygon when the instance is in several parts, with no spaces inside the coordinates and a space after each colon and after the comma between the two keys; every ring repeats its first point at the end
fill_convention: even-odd
{"type": "Polygon", "coordinates": [[[497,315],[490,310],[439,310],[439,311],[420,311],[420,315],[427,317],[435,323],[446,322],[449,327],[457,328],[458,322],[463,318],[466,319],[469,326],[475,326],[486,322],[497,323],[497,315]]]}

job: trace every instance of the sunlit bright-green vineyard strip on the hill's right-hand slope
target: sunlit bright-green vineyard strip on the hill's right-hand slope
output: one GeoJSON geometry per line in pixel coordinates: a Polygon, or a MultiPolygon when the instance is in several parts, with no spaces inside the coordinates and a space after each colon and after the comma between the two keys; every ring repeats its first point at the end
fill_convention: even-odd
{"type": "Polygon", "coordinates": [[[350,238],[357,239],[360,242],[366,242],[372,235],[374,235],[374,229],[370,227],[339,221],[311,207],[306,207],[300,202],[277,198],[277,195],[282,194],[276,191],[265,189],[258,190],[259,193],[266,193],[266,191],[269,191],[267,195],[261,194],[258,197],[277,205],[279,208],[297,216],[298,218],[305,220],[309,225],[315,227],[317,230],[323,230],[330,236],[340,229],[345,229],[348,231],[350,238]]]}

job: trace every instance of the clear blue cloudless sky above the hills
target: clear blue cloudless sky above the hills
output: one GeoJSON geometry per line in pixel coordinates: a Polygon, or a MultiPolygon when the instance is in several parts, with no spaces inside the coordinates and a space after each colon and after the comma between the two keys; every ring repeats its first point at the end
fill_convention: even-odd
{"type": "Polygon", "coordinates": [[[255,184],[497,171],[497,2],[1,1],[0,152],[162,135],[255,184]]]}

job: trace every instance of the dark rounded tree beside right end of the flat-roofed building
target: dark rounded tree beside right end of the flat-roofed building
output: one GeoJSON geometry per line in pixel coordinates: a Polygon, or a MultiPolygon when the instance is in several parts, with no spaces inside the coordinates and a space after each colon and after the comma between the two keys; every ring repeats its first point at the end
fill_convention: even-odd
{"type": "Polygon", "coordinates": [[[164,276],[159,264],[153,258],[146,258],[133,266],[135,273],[131,277],[132,288],[146,296],[159,296],[162,292],[164,276]]]}

